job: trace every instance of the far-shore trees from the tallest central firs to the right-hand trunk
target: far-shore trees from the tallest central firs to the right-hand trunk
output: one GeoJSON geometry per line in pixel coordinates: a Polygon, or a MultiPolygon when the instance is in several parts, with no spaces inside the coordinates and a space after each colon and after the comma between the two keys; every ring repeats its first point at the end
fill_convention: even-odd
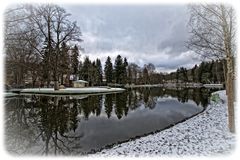
{"type": "Polygon", "coordinates": [[[203,61],[191,69],[180,67],[167,74],[157,72],[152,63],[140,67],[135,63],[128,64],[126,58],[118,55],[114,65],[111,58],[107,57],[104,73],[107,83],[118,84],[225,83],[223,64],[224,60],[203,61]]]}

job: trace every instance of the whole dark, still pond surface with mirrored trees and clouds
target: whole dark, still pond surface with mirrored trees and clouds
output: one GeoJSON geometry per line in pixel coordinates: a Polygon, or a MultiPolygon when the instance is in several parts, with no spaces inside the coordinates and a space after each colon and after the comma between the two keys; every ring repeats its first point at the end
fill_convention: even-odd
{"type": "Polygon", "coordinates": [[[95,152],[201,112],[211,92],[139,88],[106,95],[5,99],[5,147],[20,155],[95,152]]]}

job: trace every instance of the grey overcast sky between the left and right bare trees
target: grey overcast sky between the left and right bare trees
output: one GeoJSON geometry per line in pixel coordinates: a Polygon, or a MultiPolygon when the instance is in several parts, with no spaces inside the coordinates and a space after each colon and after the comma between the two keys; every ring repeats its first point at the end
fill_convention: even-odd
{"type": "Polygon", "coordinates": [[[82,31],[85,53],[104,64],[118,54],[143,66],[153,63],[158,71],[191,68],[197,56],[185,48],[187,6],[183,5],[74,5],[63,6],[82,31]]]}

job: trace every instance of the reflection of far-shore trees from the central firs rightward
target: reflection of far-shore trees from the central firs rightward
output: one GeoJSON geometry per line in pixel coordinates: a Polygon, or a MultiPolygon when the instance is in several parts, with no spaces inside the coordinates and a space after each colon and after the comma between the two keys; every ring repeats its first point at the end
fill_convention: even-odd
{"type": "Polygon", "coordinates": [[[145,108],[153,109],[156,106],[158,97],[165,96],[176,97],[181,103],[186,103],[191,99],[197,105],[206,107],[210,93],[210,90],[203,88],[178,90],[163,88],[129,89],[123,93],[106,95],[104,103],[105,112],[109,118],[114,106],[117,118],[121,119],[123,115],[127,116],[129,110],[135,110],[141,105],[144,105],[145,108]]]}

